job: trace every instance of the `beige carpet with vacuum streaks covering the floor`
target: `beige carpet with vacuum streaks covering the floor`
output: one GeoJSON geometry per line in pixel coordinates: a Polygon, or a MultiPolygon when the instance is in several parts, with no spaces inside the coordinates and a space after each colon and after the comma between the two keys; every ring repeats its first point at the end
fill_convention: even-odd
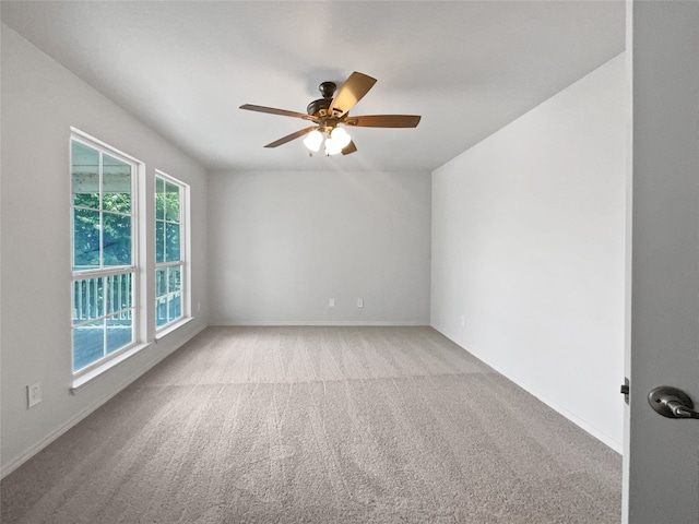
{"type": "Polygon", "coordinates": [[[429,327],[209,327],[3,479],[2,523],[617,523],[621,461],[429,327]]]}

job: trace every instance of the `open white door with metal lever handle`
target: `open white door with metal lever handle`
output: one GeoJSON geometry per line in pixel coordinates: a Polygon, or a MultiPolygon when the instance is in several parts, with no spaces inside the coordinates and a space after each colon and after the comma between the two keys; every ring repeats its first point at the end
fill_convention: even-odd
{"type": "MultiPolygon", "coordinates": [[[[699,2],[635,1],[630,409],[625,519],[699,523],[699,420],[651,409],[660,385],[699,409],[699,2]]],[[[628,41],[628,40],[627,40],[628,41]]]]}

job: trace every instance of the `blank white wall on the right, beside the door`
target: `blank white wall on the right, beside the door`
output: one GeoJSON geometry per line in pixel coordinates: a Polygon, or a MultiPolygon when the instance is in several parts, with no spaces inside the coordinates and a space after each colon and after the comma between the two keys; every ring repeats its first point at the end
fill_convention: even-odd
{"type": "Polygon", "coordinates": [[[627,96],[619,56],[433,174],[431,324],[618,451],[627,96]]]}

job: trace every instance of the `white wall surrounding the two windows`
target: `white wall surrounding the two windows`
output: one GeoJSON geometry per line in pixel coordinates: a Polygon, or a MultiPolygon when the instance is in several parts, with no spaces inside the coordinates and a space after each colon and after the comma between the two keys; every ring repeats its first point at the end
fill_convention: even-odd
{"type": "MultiPolygon", "coordinates": [[[[206,178],[200,166],[5,25],[1,52],[4,475],[206,325],[203,308],[183,329],[80,394],[70,393],[70,127],[144,162],[150,202],[155,168],[191,186],[192,298],[203,305],[206,178]],[[27,409],[25,386],[37,381],[44,401],[27,409]]],[[[153,242],[152,231],[147,240],[153,242]]]]}

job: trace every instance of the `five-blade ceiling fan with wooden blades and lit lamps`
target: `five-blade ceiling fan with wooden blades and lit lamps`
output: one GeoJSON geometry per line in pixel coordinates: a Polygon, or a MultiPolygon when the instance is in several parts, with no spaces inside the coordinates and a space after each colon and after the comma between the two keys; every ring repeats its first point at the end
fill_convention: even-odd
{"type": "Polygon", "coordinates": [[[313,122],[313,126],[287,134],[266,144],[264,147],[276,147],[307,135],[306,139],[304,139],[304,145],[313,153],[320,151],[324,142],[325,155],[336,155],[337,153],[348,155],[357,151],[357,147],[350,134],[343,129],[344,127],[415,128],[419,122],[420,117],[416,115],[350,116],[350,109],[374,87],[374,84],[376,84],[376,79],[356,71],[350,75],[340,90],[337,90],[334,82],[323,82],[318,86],[322,98],[313,100],[308,105],[306,108],[307,115],[251,104],[244,104],[240,106],[240,109],[300,118],[313,122]],[[335,90],[337,90],[336,94],[335,90]]]}

